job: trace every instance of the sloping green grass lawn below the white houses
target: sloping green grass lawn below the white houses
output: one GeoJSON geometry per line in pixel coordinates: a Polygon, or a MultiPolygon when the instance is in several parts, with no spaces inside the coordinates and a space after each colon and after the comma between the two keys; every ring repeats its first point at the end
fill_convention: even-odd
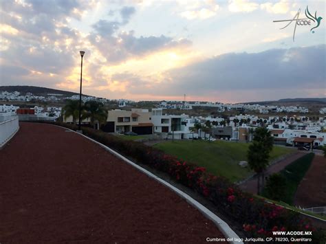
{"type": "MultiPolygon", "coordinates": [[[[206,142],[202,140],[183,140],[175,142],[162,142],[154,147],[162,151],[205,167],[213,175],[223,175],[230,181],[239,181],[252,175],[248,168],[241,168],[239,161],[247,161],[248,143],[241,142],[206,142]]],[[[270,161],[292,153],[294,149],[283,146],[274,146],[270,161]]]]}

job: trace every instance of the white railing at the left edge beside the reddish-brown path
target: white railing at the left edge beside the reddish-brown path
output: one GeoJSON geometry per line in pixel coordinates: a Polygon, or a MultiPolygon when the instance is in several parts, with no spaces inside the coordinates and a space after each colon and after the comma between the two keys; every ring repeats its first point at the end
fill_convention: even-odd
{"type": "Polygon", "coordinates": [[[19,130],[18,116],[1,116],[0,120],[0,148],[2,148],[19,130]]]}

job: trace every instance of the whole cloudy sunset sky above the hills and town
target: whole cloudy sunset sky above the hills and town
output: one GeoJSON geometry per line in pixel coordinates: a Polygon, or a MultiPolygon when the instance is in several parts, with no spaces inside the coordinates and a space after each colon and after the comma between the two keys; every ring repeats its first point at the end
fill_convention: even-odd
{"type": "Polygon", "coordinates": [[[0,4],[0,85],[79,92],[83,50],[83,93],[101,98],[184,100],[186,94],[188,101],[250,102],[326,96],[325,1],[0,4]],[[292,20],[299,10],[302,25],[273,22],[292,20]]]}

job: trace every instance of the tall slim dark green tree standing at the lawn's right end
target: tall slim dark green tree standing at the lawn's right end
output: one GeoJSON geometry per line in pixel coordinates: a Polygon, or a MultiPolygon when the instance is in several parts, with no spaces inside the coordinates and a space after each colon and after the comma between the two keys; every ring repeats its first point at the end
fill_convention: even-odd
{"type": "Polygon", "coordinates": [[[261,192],[260,178],[264,185],[265,169],[268,166],[268,158],[273,148],[273,137],[265,127],[259,127],[254,131],[252,144],[248,149],[248,164],[257,173],[257,193],[261,192]]]}

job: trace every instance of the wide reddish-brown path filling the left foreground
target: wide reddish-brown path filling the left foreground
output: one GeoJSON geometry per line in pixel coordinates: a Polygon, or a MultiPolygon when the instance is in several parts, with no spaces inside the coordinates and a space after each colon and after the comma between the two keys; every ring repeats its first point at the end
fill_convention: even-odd
{"type": "Polygon", "coordinates": [[[206,243],[213,222],[97,144],[21,123],[0,151],[0,243],[206,243]]]}

